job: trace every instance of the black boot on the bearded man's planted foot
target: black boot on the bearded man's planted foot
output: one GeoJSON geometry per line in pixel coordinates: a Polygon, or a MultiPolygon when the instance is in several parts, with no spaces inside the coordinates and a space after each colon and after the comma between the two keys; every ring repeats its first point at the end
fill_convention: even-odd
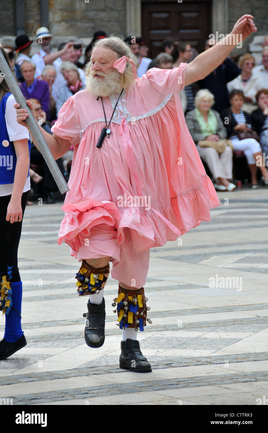
{"type": "Polygon", "coordinates": [[[120,368],[125,368],[137,373],[151,372],[151,365],[142,355],[138,340],[127,338],[121,341],[121,355],[119,357],[120,368]]]}

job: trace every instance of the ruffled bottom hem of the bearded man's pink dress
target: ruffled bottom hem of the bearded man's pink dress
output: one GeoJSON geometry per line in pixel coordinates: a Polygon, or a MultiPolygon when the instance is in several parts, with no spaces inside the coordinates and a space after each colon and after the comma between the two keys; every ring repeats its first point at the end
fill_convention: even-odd
{"type": "Polygon", "coordinates": [[[90,236],[90,229],[106,223],[117,229],[117,243],[124,241],[124,227],[130,229],[133,247],[145,251],[174,241],[201,221],[211,221],[209,210],[220,206],[220,200],[207,175],[200,176],[201,187],[171,198],[171,206],[158,210],[145,210],[138,207],[120,208],[110,201],[85,199],[65,203],[62,209],[65,217],[61,223],[58,243],[63,240],[76,255],[81,247],[80,239],[90,236]]]}

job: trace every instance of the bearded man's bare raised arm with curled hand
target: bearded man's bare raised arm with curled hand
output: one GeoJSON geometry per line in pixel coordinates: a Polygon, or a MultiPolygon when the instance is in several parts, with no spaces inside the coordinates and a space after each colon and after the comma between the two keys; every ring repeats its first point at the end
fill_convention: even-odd
{"type": "Polygon", "coordinates": [[[234,25],[233,30],[224,39],[205,52],[199,54],[186,67],[186,86],[194,81],[202,80],[211,71],[221,65],[233,48],[257,31],[252,15],[243,15],[234,25]],[[242,39],[242,41],[241,41],[242,39]]]}

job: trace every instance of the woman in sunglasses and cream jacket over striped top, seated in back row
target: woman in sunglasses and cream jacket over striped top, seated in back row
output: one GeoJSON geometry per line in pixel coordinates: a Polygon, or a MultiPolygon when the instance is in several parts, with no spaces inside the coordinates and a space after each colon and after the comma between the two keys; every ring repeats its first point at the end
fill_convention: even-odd
{"type": "Polygon", "coordinates": [[[252,77],[252,69],[255,66],[255,58],[252,54],[246,53],[242,55],[239,59],[239,65],[241,74],[233,81],[230,81],[227,84],[227,88],[229,92],[233,89],[243,90],[245,100],[242,110],[250,114],[257,108],[255,94],[262,88],[262,82],[259,78],[252,77]]]}

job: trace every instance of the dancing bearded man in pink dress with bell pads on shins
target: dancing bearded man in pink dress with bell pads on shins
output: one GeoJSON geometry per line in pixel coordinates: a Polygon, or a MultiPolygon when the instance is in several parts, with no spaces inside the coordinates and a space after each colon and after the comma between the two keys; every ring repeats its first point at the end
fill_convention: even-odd
{"type": "MultiPolygon", "coordinates": [[[[252,18],[244,15],[230,35],[189,65],[153,68],[141,78],[122,39],[101,39],[85,71],[87,90],[64,103],[53,136],[40,129],[55,159],[74,146],[58,243],[64,240],[82,261],[76,284],[79,296],[89,295],[84,317],[90,347],[104,343],[103,293],[113,264],[119,290],[112,305],[123,330],[120,368],[151,371],[137,341],[137,331],[151,323],[143,287],[150,248],[210,221],[209,210],[220,205],[179,92],[217,68],[241,35],[257,30],[252,18]]],[[[26,110],[15,107],[18,122],[27,126],[26,110]]]]}

